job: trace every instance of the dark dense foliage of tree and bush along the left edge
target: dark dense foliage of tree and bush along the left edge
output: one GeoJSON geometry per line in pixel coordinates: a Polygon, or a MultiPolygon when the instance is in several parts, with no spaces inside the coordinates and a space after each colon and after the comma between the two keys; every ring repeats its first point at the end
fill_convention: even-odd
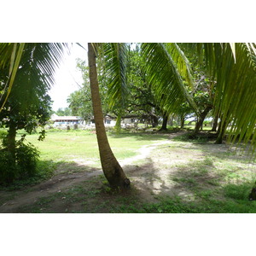
{"type": "MultiPolygon", "coordinates": [[[[8,46],[1,44],[3,48],[8,46]]],[[[25,137],[37,127],[42,127],[38,139],[45,137],[44,125],[49,120],[51,104],[48,90],[53,82],[52,67],[47,67],[50,47],[50,44],[26,44],[11,90],[7,90],[8,61],[1,68],[0,127],[7,129],[8,133],[3,134],[0,143],[0,183],[11,183],[15,179],[32,176],[37,171],[38,150],[26,143],[25,137]],[[19,130],[26,132],[16,141],[19,130]]]]}

